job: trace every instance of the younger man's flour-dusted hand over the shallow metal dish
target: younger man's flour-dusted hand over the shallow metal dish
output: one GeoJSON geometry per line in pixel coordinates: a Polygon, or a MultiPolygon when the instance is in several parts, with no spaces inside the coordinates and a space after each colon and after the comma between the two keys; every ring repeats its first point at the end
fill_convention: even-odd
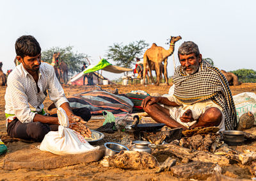
{"type": "Polygon", "coordinates": [[[72,130],[76,130],[76,132],[79,132],[82,136],[84,137],[92,137],[92,131],[90,129],[88,129],[88,127],[86,127],[86,125],[84,125],[83,118],[76,116],[74,114],[70,114],[68,116],[68,120],[69,120],[69,128],[72,130]]]}

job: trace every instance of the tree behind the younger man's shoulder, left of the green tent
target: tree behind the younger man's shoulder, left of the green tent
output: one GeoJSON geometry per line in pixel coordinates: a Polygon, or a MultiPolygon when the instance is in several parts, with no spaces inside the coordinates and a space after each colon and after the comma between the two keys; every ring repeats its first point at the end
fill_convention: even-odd
{"type": "Polygon", "coordinates": [[[68,47],[52,47],[49,50],[42,52],[42,61],[46,61],[48,63],[52,62],[52,55],[54,52],[60,52],[60,59],[63,60],[68,65],[68,72],[71,74],[76,74],[81,72],[81,67],[83,63],[88,65],[88,55],[84,53],[75,53],[72,51],[72,46],[68,47]]]}

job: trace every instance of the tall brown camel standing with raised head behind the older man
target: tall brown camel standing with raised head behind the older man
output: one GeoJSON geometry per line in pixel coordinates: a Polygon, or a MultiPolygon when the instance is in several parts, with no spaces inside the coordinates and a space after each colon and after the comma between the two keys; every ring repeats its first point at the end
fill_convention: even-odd
{"type": "MultiPolygon", "coordinates": [[[[173,54],[174,51],[174,44],[175,42],[179,41],[181,39],[180,36],[171,36],[170,39],[170,48],[168,50],[164,49],[163,47],[159,47],[156,45],[156,43],[153,43],[152,46],[147,49],[143,56],[143,67],[147,67],[148,65],[148,71],[150,74],[150,78],[154,84],[159,86],[160,83],[160,67],[161,63],[164,61],[164,82],[166,85],[169,85],[168,83],[168,76],[167,76],[167,59],[169,56],[173,54]],[[152,63],[156,64],[156,76],[157,76],[157,82],[155,83],[153,77],[152,77],[152,63]]],[[[143,70],[143,84],[145,84],[145,75],[146,75],[146,69],[143,70]]]]}

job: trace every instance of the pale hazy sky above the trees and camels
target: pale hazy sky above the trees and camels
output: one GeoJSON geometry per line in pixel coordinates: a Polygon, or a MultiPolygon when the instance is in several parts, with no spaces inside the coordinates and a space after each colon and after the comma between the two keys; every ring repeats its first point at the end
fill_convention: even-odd
{"type": "MultiPolygon", "coordinates": [[[[72,45],[94,64],[113,43],[145,40],[168,49],[166,39],[180,35],[174,52],[177,65],[177,48],[191,40],[220,69],[256,70],[255,57],[250,57],[256,42],[255,6],[256,1],[218,0],[0,1],[0,61],[4,72],[14,68],[14,44],[21,35],[35,36],[43,51],[72,45]]],[[[172,57],[168,62],[168,75],[173,75],[172,57]]]]}

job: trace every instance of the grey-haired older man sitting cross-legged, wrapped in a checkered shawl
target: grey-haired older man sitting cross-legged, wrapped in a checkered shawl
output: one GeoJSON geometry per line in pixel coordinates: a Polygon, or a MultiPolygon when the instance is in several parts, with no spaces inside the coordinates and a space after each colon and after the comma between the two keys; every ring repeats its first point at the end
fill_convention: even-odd
{"type": "Polygon", "coordinates": [[[172,128],[236,129],[236,108],[225,76],[202,60],[194,42],[182,43],[178,55],[180,66],[173,77],[173,95],[147,97],[141,107],[156,122],[172,128]]]}

